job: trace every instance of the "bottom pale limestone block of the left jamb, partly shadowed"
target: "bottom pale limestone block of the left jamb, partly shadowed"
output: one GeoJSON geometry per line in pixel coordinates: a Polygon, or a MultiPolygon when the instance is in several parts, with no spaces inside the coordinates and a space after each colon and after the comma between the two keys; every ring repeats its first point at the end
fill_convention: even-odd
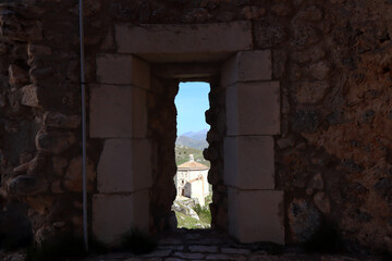
{"type": "Polygon", "coordinates": [[[93,234],[110,246],[121,243],[121,236],[137,227],[149,229],[149,191],[132,195],[96,194],[93,197],[93,234]]]}

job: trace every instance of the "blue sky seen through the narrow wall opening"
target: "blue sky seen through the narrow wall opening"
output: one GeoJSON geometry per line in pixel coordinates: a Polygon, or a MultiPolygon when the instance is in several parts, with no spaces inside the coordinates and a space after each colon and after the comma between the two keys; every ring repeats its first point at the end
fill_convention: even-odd
{"type": "Polygon", "coordinates": [[[209,109],[207,83],[181,83],[175,97],[177,109],[177,136],[187,132],[198,132],[209,128],[206,123],[205,111],[209,109]]]}

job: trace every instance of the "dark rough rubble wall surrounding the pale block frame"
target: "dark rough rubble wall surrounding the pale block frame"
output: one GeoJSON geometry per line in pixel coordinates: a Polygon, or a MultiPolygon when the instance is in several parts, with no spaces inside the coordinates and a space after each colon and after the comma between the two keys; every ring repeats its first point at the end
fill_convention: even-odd
{"type": "MultiPolygon", "coordinates": [[[[25,215],[37,240],[70,227],[81,232],[77,8],[77,1],[69,0],[10,1],[0,7],[0,202],[16,200],[29,207],[25,215]]],[[[85,9],[88,88],[97,84],[97,55],[117,49],[115,24],[250,21],[254,49],[271,49],[272,79],[280,82],[274,172],[275,188],[284,190],[286,243],[307,240],[328,220],[348,241],[392,250],[389,1],[90,0],[85,9]]],[[[154,181],[161,175],[167,184],[175,169],[169,151],[174,133],[162,133],[158,125],[173,129],[176,87],[168,92],[162,88],[149,95],[149,113],[157,115],[156,110],[169,104],[168,121],[151,117],[149,132],[156,156],[167,154],[156,158],[164,171],[152,170],[154,181]]],[[[208,123],[219,123],[217,110],[225,110],[215,94],[208,123]]],[[[216,162],[209,179],[217,227],[226,226],[225,215],[218,214],[226,213],[226,188],[218,185],[223,162],[216,157],[223,153],[222,124],[211,128],[206,151],[216,162]]],[[[88,140],[94,192],[102,146],[100,139],[88,140]]],[[[151,198],[159,198],[155,216],[167,213],[174,196],[173,190],[160,197],[160,185],[152,185],[157,195],[151,198]]],[[[151,222],[156,231],[163,226],[159,219],[151,222]]]]}

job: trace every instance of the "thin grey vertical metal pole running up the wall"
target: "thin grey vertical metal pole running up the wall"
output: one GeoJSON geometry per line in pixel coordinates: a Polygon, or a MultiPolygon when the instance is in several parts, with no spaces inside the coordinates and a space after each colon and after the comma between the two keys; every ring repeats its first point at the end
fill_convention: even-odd
{"type": "Polygon", "coordinates": [[[84,58],[84,24],[83,24],[83,0],[79,0],[79,41],[81,41],[81,89],[82,89],[82,175],[83,175],[83,238],[85,249],[88,251],[87,232],[87,178],[86,178],[86,79],[84,58]]]}

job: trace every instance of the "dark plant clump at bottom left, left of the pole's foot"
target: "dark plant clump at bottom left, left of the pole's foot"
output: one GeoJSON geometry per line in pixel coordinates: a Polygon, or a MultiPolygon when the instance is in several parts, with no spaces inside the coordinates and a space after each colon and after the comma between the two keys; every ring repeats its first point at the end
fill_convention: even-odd
{"type": "Polygon", "coordinates": [[[74,260],[87,257],[82,237],[64,235],[34,245],[26,251],[26,261],[74,260]]]}

